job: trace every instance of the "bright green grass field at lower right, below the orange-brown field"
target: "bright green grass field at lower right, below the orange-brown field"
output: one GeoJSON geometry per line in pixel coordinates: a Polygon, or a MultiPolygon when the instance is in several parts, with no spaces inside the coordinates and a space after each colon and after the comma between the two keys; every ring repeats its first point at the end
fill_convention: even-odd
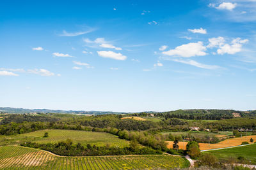
{"type": "Polygon", "coordinates": [[[223,160],[228,160],[230,157],[237,159],[237,157],[242,156],[248,159],[250,164],[256,165],[256,144],[208,152],[223,160]]]}

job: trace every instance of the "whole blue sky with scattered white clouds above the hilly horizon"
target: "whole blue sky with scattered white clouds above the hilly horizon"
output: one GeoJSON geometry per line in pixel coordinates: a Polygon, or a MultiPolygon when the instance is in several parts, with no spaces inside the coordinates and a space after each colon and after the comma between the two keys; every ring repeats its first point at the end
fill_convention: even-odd
{"type": "Polygon", "coordinates": [[[0,105],[255,110],[256,1],[2,1],[0,105]]]}

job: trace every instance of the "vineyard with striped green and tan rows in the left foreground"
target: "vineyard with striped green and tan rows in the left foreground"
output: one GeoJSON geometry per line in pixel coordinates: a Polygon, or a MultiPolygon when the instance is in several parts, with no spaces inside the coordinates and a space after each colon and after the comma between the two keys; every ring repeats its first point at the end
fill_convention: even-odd
{"type": "Polygon", "coordinates": [[[0,147],[0,169],[170,169],[189,167],[188,160],[170,155],[132,155],[103,157],[59,157],[23,148],[0,147]]]}

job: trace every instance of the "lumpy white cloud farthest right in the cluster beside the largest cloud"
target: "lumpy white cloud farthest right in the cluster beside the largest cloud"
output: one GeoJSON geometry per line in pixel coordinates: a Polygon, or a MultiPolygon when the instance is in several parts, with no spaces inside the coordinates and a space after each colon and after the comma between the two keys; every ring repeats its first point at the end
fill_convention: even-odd
{"type": "Polygon", "coordinates": [[[225,45],[220,45],[220,48],[217,50],[218,54],[234,54],[237,52],[241,52],[242,46],[244,43],[247,43],[248,39],[241,39],[241,38],[236,38],[233,39],[231,42],[231,45],[225,44],[225,45]]]}

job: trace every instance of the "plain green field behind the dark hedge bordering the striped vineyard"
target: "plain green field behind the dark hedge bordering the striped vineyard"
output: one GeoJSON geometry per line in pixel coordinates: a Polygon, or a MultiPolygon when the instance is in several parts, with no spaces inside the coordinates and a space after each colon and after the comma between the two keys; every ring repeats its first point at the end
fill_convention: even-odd
{"type": "Polygon", "coordinates": [[[58,143],[58,141],[65,141],[67,138],[72,139],[75,144],[81,143],[83,146],[88,143],[97,146],[106,146],[106,144],[118,147],[129,146],[129,141],[120,139],[118,136],[105,132],[57,129],[47,129],[13,136],[0,136],[0,145],[17,145],[25,141],[33,141],[36,143],[58,143]],[[43,138],[45,132],[48,132],[49,137],[43,138]]]}

